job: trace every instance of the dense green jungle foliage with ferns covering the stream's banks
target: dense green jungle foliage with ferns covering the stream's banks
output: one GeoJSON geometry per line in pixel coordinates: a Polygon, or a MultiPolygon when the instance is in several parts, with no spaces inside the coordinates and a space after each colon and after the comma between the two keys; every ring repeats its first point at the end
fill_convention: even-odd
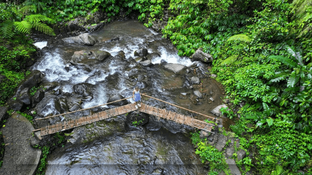
{"type": "MultiPolygon", "coordinates": [[[[295,174],[299,169],[312,173],[311,3],[311,0],[0,3],[0,74],[7,79],[0,82],[0,90],[4,92],[0,104],[12,95],[26,74],[23,62],[35,50],[25,34],[32,29],[53,35],[49,23],[78,16],[88,19],[93,12],[101,11],[107,14],[107,22],[116,15],[138,13],[145,26],[152,26],[168,10],[170,17],[162,30],[163,37],[172,40],[180,55],[191,56],[198,48],[210,53],[214,58],[211,71],[224,85],[233,108],[246,102],[232,130],[244,143],[242,148],[251,150],[255,156],[252,162],[255,173],[295,174]],[[247,127],[248,123],[255,128],[247,127]]],[[[201,148],[204,152],[211,150],[203,145],[201,148]]]]}

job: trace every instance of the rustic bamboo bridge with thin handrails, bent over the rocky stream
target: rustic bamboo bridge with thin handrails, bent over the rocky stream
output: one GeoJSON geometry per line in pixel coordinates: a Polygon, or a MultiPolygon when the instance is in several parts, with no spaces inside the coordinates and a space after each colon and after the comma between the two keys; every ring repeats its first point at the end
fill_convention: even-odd
{"type": "MultiPolygon", "coordinates": [[[[144,95],[146,97],[159,100],[157,98],[150,97],[150,96],[145,95],[145,94],[141,94],[141,95],[144,95]]],[[[132,97],[128,97],[128,98],[132,98],[132,97]]],[[[128,99],[128,98],[124,98],[124,99],[121,99],[121,100],[118,100],[118,101],[122,101],[122,100],[125,100],[125,99],[128,99]]],[[[118,101],[115,101],[115,102],[118,102],[118,101]]],[[[159,100],[159,101],[165,102],[165,101],[162,101],[162,100],[159,100]]],[[[107,105],[107,104],[111,104],[111,103],[115,103],[115,102],[110,102],[110,103],[106,103],[106,104],[103,104],[103,105],[107,105]]],[[[165,103],[168,103],[168,102],[165,102],[165,103]]],[[[191,111],[191,110],[188,110],[186,108],[174,105],[172,103],[168,103],[168,104],[171,104],[173,106],[182,108],[182,109],[187,110],[187,111],[191,111]]],[[[99,105],[99,106],[103,106],[103,105],[99,105]]],[[[90,108],[94,108],[94,107],[98,107],[98,106],[93,106],[93,107],[90,107],[90,108]]],[[[87,110],[87,109],[90,109],[90,108],[81,109],[81,110],[77,110],[77,111],[83,111],[83,110],[87,110]]],[[[119,106],[119,107],[116,107],[116,108],[108,109],[108,110],[105,110],[105,111],[101,111],[101,112],[98,112],[98,113],[95,113],[95,114],[90,114],[88,116],[83,116],[83,117],[80,117],[79,119],[69,120],[69,121],[61,121],[60,123],[57,123],[57,124],[54,124],[54,125],[48,125],[48,126],[42,127],[41,129],[37,129],[37,130],[33,130],[33,131],[34,132],[35,131],[40,131],[41,132],[40,133],[41,136],[49,135],[49,134],[61,132],[61,131],[64,131],[64,130],[68,130],[68,129],[71,129],[71,128],[75,128],[75,127],[78,127],[78,126],[90,124],[90,123],[93,123],[93,122],[96,122],[96,121],[100,121],[100,120],[104,120],[104,119],[107,119],[107,118],[111,118],[111,117],[114,117],[114,116],[119,116],[119,115],[122,115],[122,114],[126,114],[128,112],[132,112],[132,111],[135,111],[135,110],[140,111],[140,112],[144,112],[144,113],[147,113],[147,114],[150,114],[150,115],[154,115],[154,116],[157,117],[157,119],[164,118],[164,119],[167,119],[167,120],[175,121],[175,122],[177,122],[179,124],[189,125],[191,127],[195,127],[195,128],[198,128],[198,129],[205,130],[207,132],[213,133],[211,131],[213,125],[210,124],[210,123],[194,119],[193,117],[190,117],[190,116],[185,116],[185,115],[182,115],[182,114],[178,114],[176,112],[168,111],[166,109],[160,109],[160,108],[157,108],[157,107],[154,107],[154,106],[149,106],[149,105],[146,105],[144,103],[141,103],[141,107],[139,107],[138,109],[134,106],[134,103],[132,103],[132,104],[128,104],[128,105],[124,105],[124,106],[119,106]]],[[[77,111],[72,111],[72,112],[68,112],[68,113],[65,113],[65,114],[69,114],[69,113],[73,113],[73,112],[77,112],[77,111]]],[[[200,113],[195,112],[195,111],[191,111],[191,112],[200,114],[200,113]]],[[[55,115],[55,116],[61,116],[61,115],[65,115],[65,114],[59,114],[59,115],[55,115]]],[[[204,114],[200,114],[200,115],[206,116],[204,114]]],[[[51,117],[55,117],[55,116],[39,118],[39,119],[35,119],[34,121],[36,121],[36,120],[43,120],[43,119],[47,119],[47,118],[51,118],[51,117]]],[[[219,119],[213,118],[211,116],[206,116],[206,117],[209,117],[209,118],[212,118],[212,119],[215,119],[215,120],[219,120],[219,119]]]]}

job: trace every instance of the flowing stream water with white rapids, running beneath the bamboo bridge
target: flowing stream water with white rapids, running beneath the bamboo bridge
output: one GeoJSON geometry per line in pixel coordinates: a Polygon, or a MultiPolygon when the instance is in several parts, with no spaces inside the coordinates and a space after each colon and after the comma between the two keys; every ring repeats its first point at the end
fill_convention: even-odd
{"type": "MultiPolygon", "coordinates": [[[[210,78],[205,78],[207,66],[195,62],[201,76],[202,92],[207,98],[198,99],[193,90],[184,86],[187,75],[176,74],[163,67],[163,62],[194,64],[187,57],[180,57],[177,50],[160,34],[145,28],[137,21],[119,21],[107,24],[99,31],[91,33],[99,44],[81,46],[68,43],[52,43],[44,50],[41,60],[33,66],[44,75],[42,82],[54,83],[61,95],[50,91],[36,106],[38,115],[59,114],[55,108],[58,98],[66,98],[69,108],[79,103],[81,108],[105,104],[111,95],[120,94],[131,97],[132,90],[139,86],[142,93],[174,103],[176,105],[209,114],[221,104],[222,88],[210,78]],[[119,37],[117,41],[111,39],[119,37]],[[105,42],[106,41],[106,42],[105,42]],[[107,42],[110,41],[110,42],[107,42]],[[150,67],[141,66],[134,61],[134,51],[148,49],[149,53],[159,53],[150,67]],[[84,65],[72,65],[69,61],[75,51],[104,50],[111,54],[102,62],[90,62],[84,65]],[[124,52],[125,58],[118,54],[124,52]],[[91,98],[84,99],[74,93],[73,86],[78,83],[90,83],[91,98]],[[214,101],[209,101],[212,97],[214,101]],[[196,101],[197,102],[194,102],[196,101]]],[[[43,47],[45,42],[36,43],[43,47]]],[[[195,72],[195,71],[194,71],[195,72]]],[[[192,71],[193,73],[193,71],[192,71]]],[[[133,102],[130,98],[129,102],[133,102]]],[[[188,114],[188,112],[153,99],[143,98],[144,103],[168,110],[188,114]]],[[[95,110],[77,112],[66,116],[78,118],[90,112],[101,111],[112,106],[101,106],[95,110]]],[[[211,114],[210,114],[211,115],[211,114]]],[[[46,175],[56,174],[205,174],[200,158],[195,155],[189,140],[188,127],[150,117],[152,123],[128,131],[124,128],[125,115],[106,121],[75,128],[71,132],[71,144],[54,150],[48,157],[46,175]],[[155,124],[156,123],[156,124],[155,124]]],[[[198,116],[204,120],[204,117],[198,116]]],[[[50,119],[50,124],[55,120],[50,119]]],[[[45,123],[47,124],[47,123],[45,123]]]]}

